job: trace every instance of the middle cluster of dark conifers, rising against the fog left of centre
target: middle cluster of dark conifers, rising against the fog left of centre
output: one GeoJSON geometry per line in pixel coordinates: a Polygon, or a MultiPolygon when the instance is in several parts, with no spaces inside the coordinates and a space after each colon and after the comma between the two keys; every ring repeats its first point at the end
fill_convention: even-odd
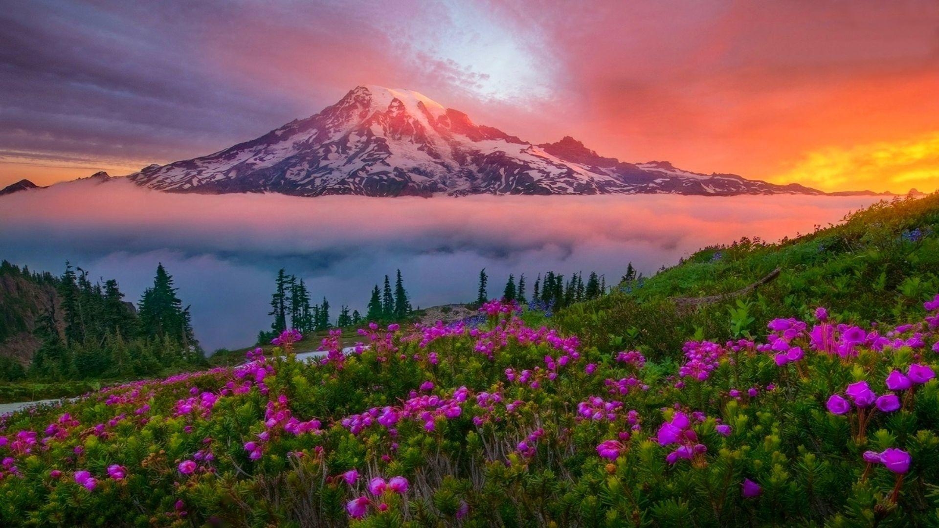
{"type": "Polygon", "coordinates": [[[390,322],[404,320],[411,316],[408,290],[404,286],[401,270],[397,270],[392,287],[391,277],[385,275],[382,287],[376,284],[367,305],[364,317],[359,310],[350,310],[343,305],[335,319],[330,316],[330,302],[323,297],[322,302],[311,304],[311,295],[303,279],[286,274],[285,269],[277,272],[274,293],[270,297],[269,316],[270,332],[258,334],[258,343],[267,343],[273,336],[287,328],[296,328],[300,333],[310,333],[339,327],[356,326],[365,321],[390,322]]]}

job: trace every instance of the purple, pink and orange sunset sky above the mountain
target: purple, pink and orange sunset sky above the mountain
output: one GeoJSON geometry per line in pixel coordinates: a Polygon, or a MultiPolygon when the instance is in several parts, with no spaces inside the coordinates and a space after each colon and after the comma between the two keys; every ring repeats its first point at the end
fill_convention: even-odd
{"type": "Polygon", "coordinates": [[[0,69],[0,187],[207,154],[374,84],[628,162],[939,188],[935,0],[38,0],[0,12],[0,69]]]}

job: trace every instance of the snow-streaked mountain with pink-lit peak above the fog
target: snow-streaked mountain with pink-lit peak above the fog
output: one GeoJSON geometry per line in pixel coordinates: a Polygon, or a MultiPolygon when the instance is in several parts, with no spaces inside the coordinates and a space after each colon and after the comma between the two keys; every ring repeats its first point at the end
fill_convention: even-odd
{"type": "Polygon", "coordinates": [[[130,178],[210,194],[824,194],[667,162],[623,163],[571,137],[533,145],[418,92],[374,85],[252,141],[130,178]]]}

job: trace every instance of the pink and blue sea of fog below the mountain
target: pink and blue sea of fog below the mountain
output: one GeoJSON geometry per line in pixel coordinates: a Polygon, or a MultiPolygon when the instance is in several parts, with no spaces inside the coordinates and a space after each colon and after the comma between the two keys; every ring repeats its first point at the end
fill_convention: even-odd
{"type": "MultiPolygon", "coordinates": [[[[838,222],[871,196],[469,196],[301,198],[164,194],[124,179],[77,181],[0,196],[0,258],[61,273],[65,261],[115,278],[139,300],[157,263],[174,276],[204,348],[253,343],[269,326],[277,270],[364,312],[386,273],[404,274],[412,303],[489,294],[510,272],[605,273],[628,262],[646,274],[702,246],[741,237],[776,241],[838,222]]],[[[531,291],[531,286],[529,287],[531,291]]]]}

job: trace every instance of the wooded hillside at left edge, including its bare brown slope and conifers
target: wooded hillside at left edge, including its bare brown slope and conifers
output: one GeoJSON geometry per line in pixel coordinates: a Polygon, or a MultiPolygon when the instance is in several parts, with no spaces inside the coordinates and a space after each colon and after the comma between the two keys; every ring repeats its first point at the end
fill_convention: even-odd
{"type": "Polygon", "coordinates": [[[199,363],[173,277],[162,264],[138,306],[114,279],[92,283],[68,262],[61,276],[0,264],[0,380],[84,380],[160,373],[199,363]]]}

